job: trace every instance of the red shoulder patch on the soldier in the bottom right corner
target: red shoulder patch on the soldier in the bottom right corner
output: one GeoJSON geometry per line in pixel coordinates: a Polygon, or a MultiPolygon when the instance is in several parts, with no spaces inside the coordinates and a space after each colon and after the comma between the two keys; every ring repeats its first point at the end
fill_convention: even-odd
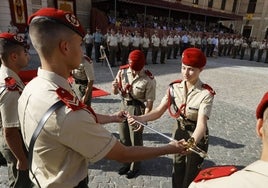
{"type": "Polygon", "coordinates": [[[199,174],[194,179],[194,182],[229,176],[236,171],[237,168],[233,165],[206,168],[199,172],[199,174]]]}

